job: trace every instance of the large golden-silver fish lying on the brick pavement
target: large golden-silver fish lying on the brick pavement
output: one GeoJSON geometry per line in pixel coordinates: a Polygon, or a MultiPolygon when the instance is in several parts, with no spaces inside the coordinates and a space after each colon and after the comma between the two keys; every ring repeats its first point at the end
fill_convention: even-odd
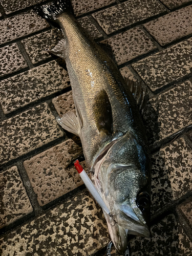
{"type": "Polygon", "coordinates": [[[57,121],[80,137],[92,182],[111,213],[103,211],[111,239],[123,254],[130,234],[150,237],[151,156],[140,113],[145,90],[125,81],[108,52],[75,19],[69,0],[35,11],[62,31],[50,52],[66,61],[76,115],[68,112],[57,121]]]}

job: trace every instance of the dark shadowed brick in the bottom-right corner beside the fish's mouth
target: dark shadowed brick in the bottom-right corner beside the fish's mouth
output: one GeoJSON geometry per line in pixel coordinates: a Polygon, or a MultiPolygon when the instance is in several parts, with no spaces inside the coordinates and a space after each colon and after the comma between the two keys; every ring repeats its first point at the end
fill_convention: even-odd
{"type": "Polygon", "coordinates": [[[192,243],[174,215],[168,215],[151,227],[151,238],[130,241],[132,256],[191,256],[192,243]]]}

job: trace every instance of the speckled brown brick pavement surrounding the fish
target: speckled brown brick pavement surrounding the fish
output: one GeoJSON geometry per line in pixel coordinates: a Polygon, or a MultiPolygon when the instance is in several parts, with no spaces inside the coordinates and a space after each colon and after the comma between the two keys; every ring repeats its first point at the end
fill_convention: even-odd
{"type": "MultiPolygon", "coordinates": [[[[40,2],[0,0],[0,254],[105,255],[102,211],[67,168],[78,145],[55,117],[75,111],[74,102],[65,65],[46,52],[60,33],[33,12],[40,2]]],[[[111,45],[121,73],[146,83],[150,96],[152,236],[130,237],[131,255],[191,256],[192,2],[72,4],[90,35],[111,45]]]]}

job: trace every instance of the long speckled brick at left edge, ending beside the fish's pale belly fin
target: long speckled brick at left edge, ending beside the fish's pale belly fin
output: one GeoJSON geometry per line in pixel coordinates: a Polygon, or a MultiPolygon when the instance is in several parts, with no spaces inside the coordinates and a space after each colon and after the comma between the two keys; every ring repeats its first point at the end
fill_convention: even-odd
{"type": "Polygon", "coordinates": [[[47,103],[0,123],[0,164],[16,159],[63,135],[47,103]]]}

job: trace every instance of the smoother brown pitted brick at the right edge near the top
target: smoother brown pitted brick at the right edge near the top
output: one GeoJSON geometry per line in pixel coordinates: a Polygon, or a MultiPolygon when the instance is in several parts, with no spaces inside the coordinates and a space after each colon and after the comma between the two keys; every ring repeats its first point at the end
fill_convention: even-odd
{"type": "Polygon", "coordinates": [[[164,46],[192,33],[192,6],[169,13],[146,23],[147,31],[164,46]]]}

